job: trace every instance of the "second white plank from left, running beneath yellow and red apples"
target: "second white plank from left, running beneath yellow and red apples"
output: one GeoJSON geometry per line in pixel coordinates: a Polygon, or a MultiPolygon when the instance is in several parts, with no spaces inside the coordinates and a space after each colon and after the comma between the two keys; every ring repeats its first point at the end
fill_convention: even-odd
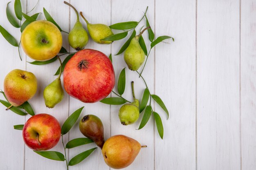
{"type": "MultiPolygon", "coordinates": [[[[27,4],[27,9],[30,11],[36,4],[36,0],[27,4]]],[[[43,7],[49,12],[49,14],[54,18],[54,20],[58,23],[58,25],[65,31],[69,29],[69,9],[62,1],[51,1],[51,0],[44,0],[39,1],[37,7],[29,13],[30,15],[41,12],[42,14],[39,15],[39,19],[44,19],[43,14],[43,7]],[[58,10],[61,9],[61,10],[58,10]]],[[[62,33],[63,35],[63,46],[65,49],[68,49],[67,43],[67,34],[62,33]]],[[[63,60],[65,56],[61,56],[63,60]]],[[[27,61],[33,61],[29,57],[27,57],[27,61]]],[[[69,97],[65,93],[65,97],[63,101],[57,104],[54,108],[47,108],[45,106],[45,102],[43,99],[43,90],[44,88],[50,84],[57,76],[54,76],[55,72],[57,71],[58,67],[60,66],[58,60],[47,65],[37,66],[27,63],[27,71],[33,72],[37,79],[38,79],[38,91],[36,95],[31,99],[31,105],[34,108],[35,113],[48,113],[53,115],[58,119],[59,123],[63,124],[65,119],[68,116],[68,108],[69,108],[69,97]]],[[[62,78],[61,78],[62,80],[62,78]]],[[[27,119],[29,116],[27,116],[27,119]]],[[[64,136],[65,142],[68,139],[68,135],[64,136]]],[[[61,141],[52,148],[51,150],[62,152],[64,154],[63,146],[61,141]]],[[[66,165],[64,162],[61,161],[53,161],[50,159],[46,159],[41,157],[40,155],[33,152],[33,150],[29,149],[25,146],[25,170],[31,169],[65,169],[66,165]]]]}

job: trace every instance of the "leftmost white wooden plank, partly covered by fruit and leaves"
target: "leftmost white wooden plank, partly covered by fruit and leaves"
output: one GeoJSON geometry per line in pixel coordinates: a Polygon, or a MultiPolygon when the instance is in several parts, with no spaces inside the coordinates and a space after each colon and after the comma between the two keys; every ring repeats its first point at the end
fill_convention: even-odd
{"type": "MultiPolygon", "coordinates": [[[[19,43],[20,40],[20,29],[13,27],[6,16],[6,5],[9,1],[3,0],[0,1],[0,16],[1,21],[0,25],[4,27],[14,38],[16,38],[19,43]]],[[[9,9],[12,11],[12,14],[15,16],[14,10],[14,1],[9,4],[9,9]]],[[[26,2],[22,3],[23,11],[26,11],[26,2]]],[[[17,20],[18,21],[18,20],[17,20]]],[[[14,47],[9,44],[4,37],[0,34],[0,51],[2,56],[2,62],[0,62],[1,76],[0,76],[0,89],[4,91],[4,78],[5,76],[12,71],[13,69],[26,70],[26,57],[25,53],[21,50],[22,61],[20,61],[18,47],[14,47]]],[[[5,100],[1,95],[0,99],[5,100]]],[[[24,142],[22,139],[22,131],[14,130],[13,125],[24,124],[25,116],[17,115],[11,110],[5,111],[6,107],[0,104],[0,127],[1,127],[1,140],[0,145],[3,146],[0,152],[0,169],[15,169],[23,170],[24,165],[24,142]],[[15,163],[13,163],[15,160],[15,163]]]]}

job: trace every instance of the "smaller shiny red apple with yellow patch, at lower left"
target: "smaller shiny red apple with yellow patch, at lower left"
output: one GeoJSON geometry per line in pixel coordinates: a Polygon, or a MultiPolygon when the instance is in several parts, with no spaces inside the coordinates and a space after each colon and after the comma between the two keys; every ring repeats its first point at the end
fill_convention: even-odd
{"type": "Polygon", "coordinates": [[[27,120],[22,130],[22,136],[29,148],[48,150],[60,140],[61,126],[52,115],[37,114],[27,120]]]}

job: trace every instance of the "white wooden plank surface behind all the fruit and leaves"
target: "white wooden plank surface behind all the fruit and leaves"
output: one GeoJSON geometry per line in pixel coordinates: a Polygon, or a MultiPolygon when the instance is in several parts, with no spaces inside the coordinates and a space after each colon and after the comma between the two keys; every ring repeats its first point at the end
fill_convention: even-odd
{"type": "MultiPolygon", "coordinates": [[[[17,40],[19,29],[9,24],[5,7],[0,1],[0,24],[17,40]]],[[[22,0],[23,12],[37,0],[22,0]]],[[[138,21],[148,6],[147,16],[156,37],[171,35],[175,42],[161,43],[148,58],[144,78],[151,93],[159,95],[170,112],[166,114],[153,105],[162,117],[164,140],[160,139],[152,117],[141,130],[138,121],[122,126],[118,119],[120,106],[102,103],[84,104],[65,94],[53,109],[45,107],[42,93],[52,82],[59,66],[54,62],[44,66],[31,61],[22,52],[19,60],[16,47],[0,35],[0,88],[9,71],[20,68],[33,72],[38,79],[38,91],[29,102],[36,113],[54,115],[62,125],[74,110],[85,106],[81,117],[94,114],[101,118],[106,139],[123,134],[137,139],[148,148],[141,149],[127,170],[255,170],[256,169],[256,1],[255,0],[69,0],[92,23],[114,24],[138,21]]],[[[13,2],[11,3],[13,5],[13,2]]],[[[76,17],[62,0],[40,0],[31,13],[43,12],[43,7],[65,31],[72,29],[76,17]]],[[[40,15],[43,19],[43,15],[40,15]]],[[[83,22],[81,20],[81,22],[83,22]]],[[[84,22],[83,22],[84,24],[84,22]]],[[[141,26],[145,21],[141,22],[141,26]]],[[[85,26],[85,24],[84,24],[85,26]]],[[[140,26],[138,26],[138,29],[140,26]]],[[[136,30],[139,32],[139,30],[136,30]]],[[[114,31],[117,33],[117,31],[114,31]]],[[[144,34],[144,39],[147,39],[144,34]]],[[[63,46],[73,51],[63,33],[63,46]]],[[[106,55],[115,54],[124,40],[112,45],[89,41],[86,48],[106,55]]],[[[149,43],[147,44],[150,45],[149,43]]],[[[22,51],[22,50],[21,50],[22,51]]],[[[116,77],[126,67],[123,56],[112,56],[116,77]]],[[[137,74],[126,70],[124,97],[132,99],[130,82],[135,81],[135,93],[141,97],[145,88],[137,74]]],[[[117,91],[117,89],[114,89],[117,91]]],[[[115,94],[111,94],[114,96],[115,94]]],[[[3,99],[3,97],[0,97],[3,99]]],[[[30,117],[5,111],[0,105],[0,170],[65,170],[65,163],[40,157],[24,145],[22,134],[13,125],[24,124],[30,117]]],[[[80,117],[80,118],[81,118],[80,117]]],[[[141,120],[141,118],[140,118],[141,120]]],[[[76,124],[68,140],[83,137],[76,124]]],[[[69,159],[94,147],[88,144],[70,149],[69,159]]],[[[63,152],[61,143],[54,149],[63,152]]],[[[107,170],[99,149],[70,170],[107,170]]]]}

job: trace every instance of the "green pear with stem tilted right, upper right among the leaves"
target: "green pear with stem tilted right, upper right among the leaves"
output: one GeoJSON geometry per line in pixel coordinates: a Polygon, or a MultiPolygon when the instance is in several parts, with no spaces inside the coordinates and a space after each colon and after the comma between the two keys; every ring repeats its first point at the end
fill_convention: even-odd
{"type": "Polygon", "coordinates": [[[129,46],[124,52],[124,61],[126,62],[128,68],[132,71],[137,71],[145,60],[145,53],[139,45],[139,37],[149,28],[150,27],[145,28],[143,31],[141,31],[141,33],[139,33],[139,35],[132,38],[129,46]]]}

